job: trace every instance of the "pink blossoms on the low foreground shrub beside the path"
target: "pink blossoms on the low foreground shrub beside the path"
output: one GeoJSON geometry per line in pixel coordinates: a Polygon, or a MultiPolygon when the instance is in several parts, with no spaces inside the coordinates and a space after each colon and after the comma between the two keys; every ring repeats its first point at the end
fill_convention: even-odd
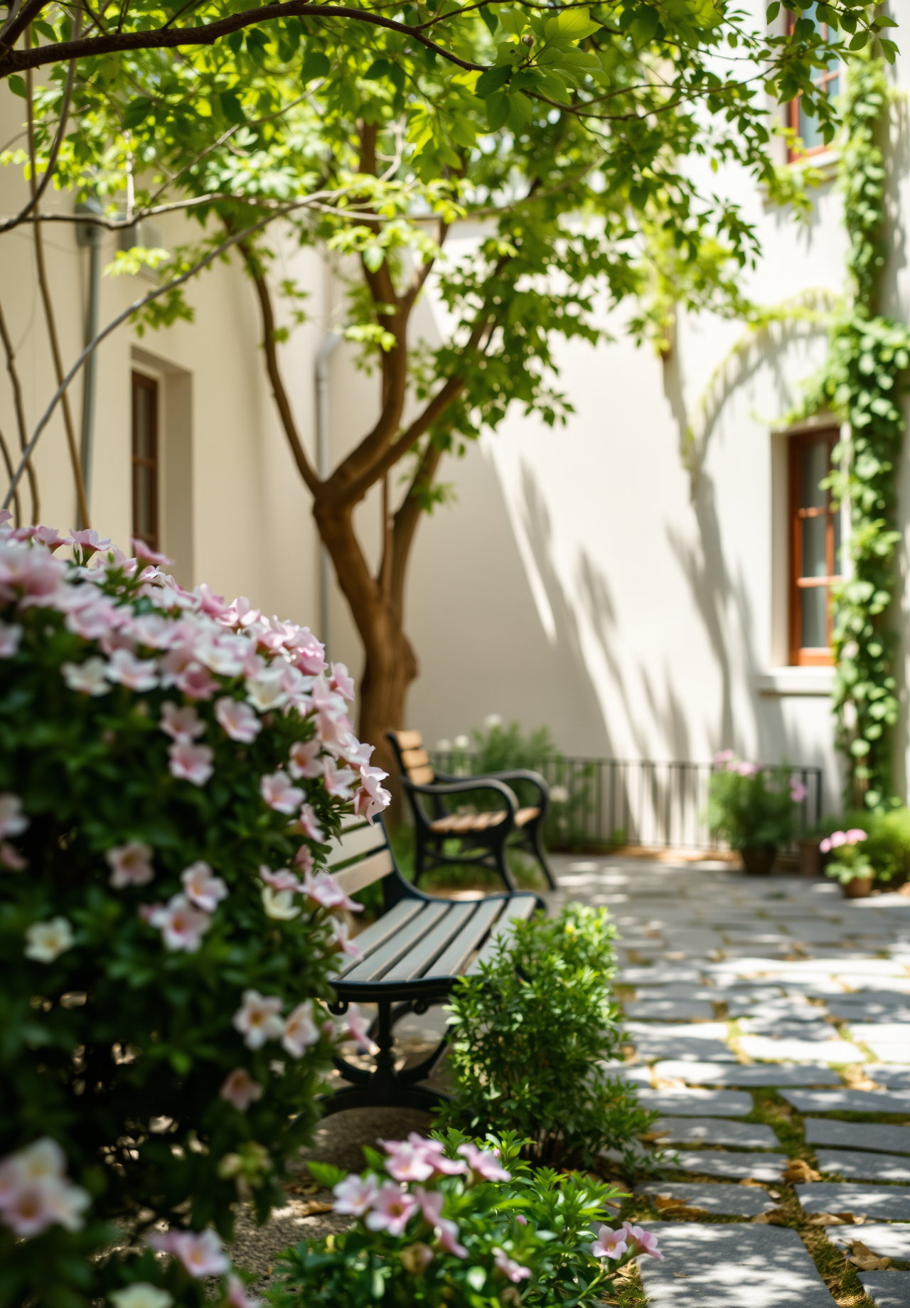
{"type": "MultiPolygon", "coordinates": [[[[391,1181],[373,1172],[358,1176],[352,1172],[333,1190],[335,1211],[362,1218],[369,1231],[386,1231],[403,1236],[412,1218],[420,1215],[433,1228],[441,1249],[467,1258],[468,1250],[459,1243],[458,1223],[442,1215],[446,1197],[442,1190],[430,1190],[422,1184],[443,1176],[464,1176],[475,1181],[509,1181],[511,1173],[501,1165],[498,1150],[480,1150],[476,1144],[460,1144],[458,1159],[446,1158],[441,1141],[425,1139],[411,1131],[407,1141],[380,1141],[386,1154],[386,1171],[391,1181]],[[408,1185],[413,1185],[413,1190],[408,1185]]],[[[431,1256],[431,1250],[429,1250],[431,1256]]],[[[513,1262],[502,1249],[494,1250],[496,1266],[518,1282],[531,1275],[528,1267],[513,1262]]],[[[429,1260],[426,1260],[429,1261],[429,1260]]]]}

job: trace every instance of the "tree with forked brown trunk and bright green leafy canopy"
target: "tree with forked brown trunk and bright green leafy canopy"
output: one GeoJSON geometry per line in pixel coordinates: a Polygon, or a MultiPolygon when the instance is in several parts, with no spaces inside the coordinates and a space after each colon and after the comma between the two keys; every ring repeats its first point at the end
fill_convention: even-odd
{"type": "MultiPolygon", "coordinates": [[[[769,21],[778,10],[770,5],[769,21]]],[[[846,4],[817,12],[832,41],[841,29],[855,48],[890,22],[846,4]]],[[[412,5],[400,20],[292,0],[256,10],[246,31],[238,20],[248,13],[217,18],[209,5],[212,31],[229,31],[225,22],[234,30],[196,48],[182,35],[179,56],[149,48],[170,42],[177,12],[163,22],[167,9],[127,7],[116,27],[86,13],[106,35],[84,42],[120,52],[78,63],[65,136],[67,69],[56,65],[38,97],[39,158],[54,158],[61,141],[60,181],[110,200],[129,182],[131,217],[186,207],[205,234],[178,252],[175,275],[226,238],[238,246],[281,422],[363,642],[360,731],[383,742],[403,723],[417,671],[404,624],[407,568],[421,513],[445,496],[442,459],[494,429],[513,402],[565,421],[571,407],[553,385],[556,340],[603,339],[604,309],[646,294],[655,275],[663,296],[669,286],[677,300],[741,311],[736,273],[756,256],[754,233],[722,194],[696,184],[685,161],[741,166],[779,191],[766,95],[801,94],[830,139],[833,106],[811,78],[832,46],[801,10],[787,35],[775,35],[750,29],[731,7],[694,0],[412,5]],[[139,48],[124,50],[127,35],[139,48]],[[484,224],[476,252],[445,262],[463,217],[484,224]],[[278,218],[348,275],[346,335],[380,379],[377,421],[324,480],[282,382],[286,320],[303,309],[290,285],[277,288],[288,306],[276,309],[267,233],[278,218]],[[455,323],[437,348],[412,327],[430,279],[455,323]],[[394,502],[390,477],[401,467],[407,492],[394,502]],[[378,484],[384,547],[374,574],[353,511],[378,484]]],[[[85,44],[65,42],[61,14],[39,29],[42,50],[60,42],[58,58],[81,54],[85,44]]],[[[890,42],[881,47],[893,55],[890,42]]],[[[38,65],[34,51],[18,56],[26,63],[17,67],[38,65]]],[[[167,293],[145,320],[190,313],[167,293]]]]}

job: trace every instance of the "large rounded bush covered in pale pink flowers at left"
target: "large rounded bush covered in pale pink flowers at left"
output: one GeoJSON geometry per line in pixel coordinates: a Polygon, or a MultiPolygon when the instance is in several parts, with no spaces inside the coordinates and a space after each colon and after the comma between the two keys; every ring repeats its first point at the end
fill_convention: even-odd
{"type": "Polygon", "coordinates": [[[111,1218],[228,1237],[281,1197],[354,948],[318,865],[388,799],[315,637],[133,544],[0,527],[0,1303],[112,1292],[111,1218]]]}

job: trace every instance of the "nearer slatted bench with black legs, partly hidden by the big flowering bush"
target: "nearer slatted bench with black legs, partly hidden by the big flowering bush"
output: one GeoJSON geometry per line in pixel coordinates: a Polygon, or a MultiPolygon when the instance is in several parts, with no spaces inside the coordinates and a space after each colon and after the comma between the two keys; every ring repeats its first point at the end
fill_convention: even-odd
{"type": "Polygon", "coordinates": [[[362,959],[345,959],[332,978],[340,1015],[350,1003],[375,1003],[373,1036],[379,1046],[373,1071],[344,1058],[335,1066],[350,1084],[323,1100],[324,1113],[345,1108],[404,1107],[430,1109],[445,1096],[420,1086],[442,1054],[446,1040],[413,1067],[396,1070],[394,1025],[405,1012],[426,1012],[443,1002],[459,976],[472,976],[490,960],[497,944],[544,908],[537,895],[490,895],[479,900],[447,900],[414,889],[397,869],[382,821],[374,827],[348,819],[332,841],[328,867],[348,892],[382,880],[383,910],[354,943],[362,959]]]}

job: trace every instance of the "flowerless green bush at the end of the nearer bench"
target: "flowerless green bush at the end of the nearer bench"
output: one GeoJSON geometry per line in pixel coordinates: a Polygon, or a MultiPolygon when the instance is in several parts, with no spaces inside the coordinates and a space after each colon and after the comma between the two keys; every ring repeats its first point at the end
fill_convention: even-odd
{"type": "Polygon", "coordinates": [[[573,904],[554,921],[516,923],[493,961],[458,984],[443,1122],[516,1131],[533,1162],[584,1167],[647,1130],[651,1116],[605,1062],[622,1041],[615,934],[605,909],[573,904]]]}

